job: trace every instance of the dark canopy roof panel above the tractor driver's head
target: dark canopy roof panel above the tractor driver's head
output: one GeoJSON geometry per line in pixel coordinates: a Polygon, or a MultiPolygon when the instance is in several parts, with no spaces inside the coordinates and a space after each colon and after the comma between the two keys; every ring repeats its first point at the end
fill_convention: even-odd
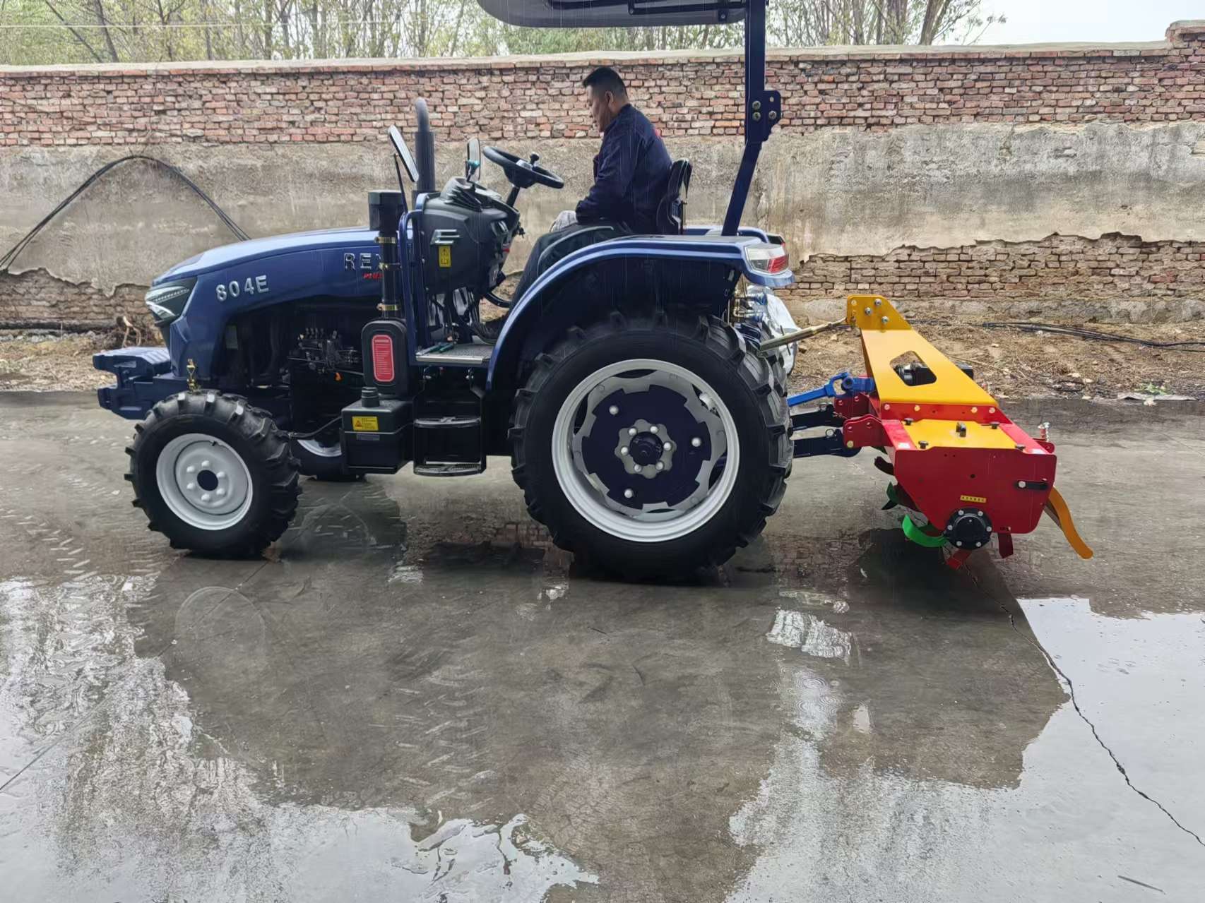
{"type": "Polygon", "coordinates": [[[511,25],[609,28],[729,24],[745,18],[745,0],[477,0],[511,25]]]}

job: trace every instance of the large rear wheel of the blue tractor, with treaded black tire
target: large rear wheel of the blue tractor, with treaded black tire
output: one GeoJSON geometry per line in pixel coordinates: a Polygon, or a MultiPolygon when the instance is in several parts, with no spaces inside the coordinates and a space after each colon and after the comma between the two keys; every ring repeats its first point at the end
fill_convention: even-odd
{"type": "Polygon", "coordinates": [[[788,423],[770,367],[721,320],[613,314],[535,360],[512,473],[559,547],[680,577],[760,533],[790,473],[788,423]]]}

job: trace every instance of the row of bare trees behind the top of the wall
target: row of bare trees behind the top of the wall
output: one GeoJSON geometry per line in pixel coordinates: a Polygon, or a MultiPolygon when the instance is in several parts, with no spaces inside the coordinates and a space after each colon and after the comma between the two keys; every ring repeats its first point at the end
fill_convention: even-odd
{"type": "MultiPolygon", "coordinates": [[[[527,29],[475,0],[0,0],[0,63],[448,57],[739,47],[741,25],[527,29]]],[[[780,47],[975,41],[982,0],[775,0],[780,47]]],[[[1003,18],[1003,17],[1001,17],[1003,18]]]]}

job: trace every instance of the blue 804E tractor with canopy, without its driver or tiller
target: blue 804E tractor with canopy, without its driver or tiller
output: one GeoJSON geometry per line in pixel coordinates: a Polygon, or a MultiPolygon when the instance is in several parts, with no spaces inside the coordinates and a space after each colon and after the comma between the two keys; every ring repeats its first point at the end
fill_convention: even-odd
{"type": "Polygon", "coordinates": [[[740,226],[781,116],[764,85],[765,0],[481,2],[522,25],[743,19],[746,143],[723,225],[686,225],[682,160],[662,234],[583,248],[522,297],[500,297],[518,194],[564,183],[535,154],[487,147],[504,197],[478,181],[471,141],[464,176],[437,189],[418,101],[417,153],[389,130],[401,190],[370,194],[369,228],[186,260],[146,297],[166,347],[96,355],[117,377],[100,405],[139,421],[134,504],[175,547],[258,553],[287,529],[302,474],[413,462],[462,477],[490,455],[510,456],[558,545],[633,577],[723,562],[778,507],[794,324],[771,290],[792,275],[781,238],[740,226]],[[482,300],[505,318],[483,320],[482,300]]]}

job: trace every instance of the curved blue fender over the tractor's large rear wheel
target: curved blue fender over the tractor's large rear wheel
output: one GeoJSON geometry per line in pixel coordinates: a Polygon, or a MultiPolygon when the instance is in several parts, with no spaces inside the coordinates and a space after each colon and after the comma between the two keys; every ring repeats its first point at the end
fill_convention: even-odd
{"type": "Polygon", "coordinates": [[[731,288],[740,276],[752,283],[774,288],[788,285],[793,281],[789,271],[768,275],[750,266],[743,250],[757,243],[758,236],[747,235],[631,236],[612,238],[574,252],[549,267],[511,308],[489,361],[487,388],[516,385],[523,362],[535,358],[551,337],[570,326],[589,321],[596,315],[595,308],[607,308],[610,300],[606,297],[594,299],[592,305],[583,306],[581,297],[566,293],[575,277],[590,270],[601,270],[617,260],[624,260],[625,265],[654,267],[658,277],[681,275],[683,279],[692,275],[698,278],[701,265],[718,265],[712,270],[722,276],[713,287],[709,285],[703,291],[688,291],[686,296],[674,299],[675,303],[696,307],[718,317],[723,314],[731,288]]]}

